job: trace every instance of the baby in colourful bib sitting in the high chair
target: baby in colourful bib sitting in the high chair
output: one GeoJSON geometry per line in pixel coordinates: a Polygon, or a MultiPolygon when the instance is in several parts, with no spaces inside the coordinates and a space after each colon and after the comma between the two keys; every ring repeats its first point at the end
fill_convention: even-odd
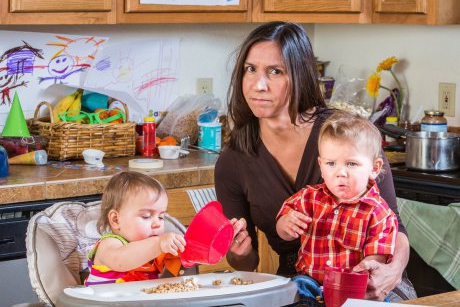
{"type": "Polygon", "coordinates": [[[185,240],[164,232],[168,196],[157,180],[138,172],[112,177],[102,195],[101,239],[88,254],[86,286],[156,279],[180,270],[185,240]]]}

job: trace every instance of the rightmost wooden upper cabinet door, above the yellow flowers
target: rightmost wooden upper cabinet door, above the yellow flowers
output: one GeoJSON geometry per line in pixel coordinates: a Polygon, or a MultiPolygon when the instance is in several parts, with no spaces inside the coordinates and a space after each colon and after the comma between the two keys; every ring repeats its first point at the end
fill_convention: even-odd
{"type": "Polygon", "coordinates": [[[374,0],[373,23],[441,25],[460,23],[458,0],[374,0]]]}

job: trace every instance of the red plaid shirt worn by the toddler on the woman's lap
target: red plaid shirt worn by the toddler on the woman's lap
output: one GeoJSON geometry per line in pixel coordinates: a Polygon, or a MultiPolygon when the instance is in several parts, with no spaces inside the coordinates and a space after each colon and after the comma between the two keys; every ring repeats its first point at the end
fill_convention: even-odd
{"type": "Polygon", "coordinates": [[[373,181],[360,199],[342,203],[324,183],[307,186],[284,202],[276,219],[291,210],[313,219],[300,239],[297,272],[321,284],[326,266],[352,268],[368,255],[393,256],[398,220],[373,181]]]}

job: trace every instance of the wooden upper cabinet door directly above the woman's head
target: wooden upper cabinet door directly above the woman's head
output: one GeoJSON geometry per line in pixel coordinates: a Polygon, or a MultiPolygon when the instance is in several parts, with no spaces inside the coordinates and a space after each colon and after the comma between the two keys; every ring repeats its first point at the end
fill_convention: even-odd
{"type": "Polygon", "coordinates": [[[253,21],[369,22],[368,0],[253,0],[253,21]]]}

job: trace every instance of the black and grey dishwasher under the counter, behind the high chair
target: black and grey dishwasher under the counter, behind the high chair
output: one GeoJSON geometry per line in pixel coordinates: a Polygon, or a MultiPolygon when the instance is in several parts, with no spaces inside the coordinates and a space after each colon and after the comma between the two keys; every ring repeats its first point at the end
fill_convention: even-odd
{"type": "Polygon", "coordinates": [[[26,233],[30,218],[61,201],[91,202],[101,195],[0,205],[0,297],[2,306],[38,302],[32,290],[26,259],[26,233]],[[8,282],[4,282],[8,281],[8,282]]]}

